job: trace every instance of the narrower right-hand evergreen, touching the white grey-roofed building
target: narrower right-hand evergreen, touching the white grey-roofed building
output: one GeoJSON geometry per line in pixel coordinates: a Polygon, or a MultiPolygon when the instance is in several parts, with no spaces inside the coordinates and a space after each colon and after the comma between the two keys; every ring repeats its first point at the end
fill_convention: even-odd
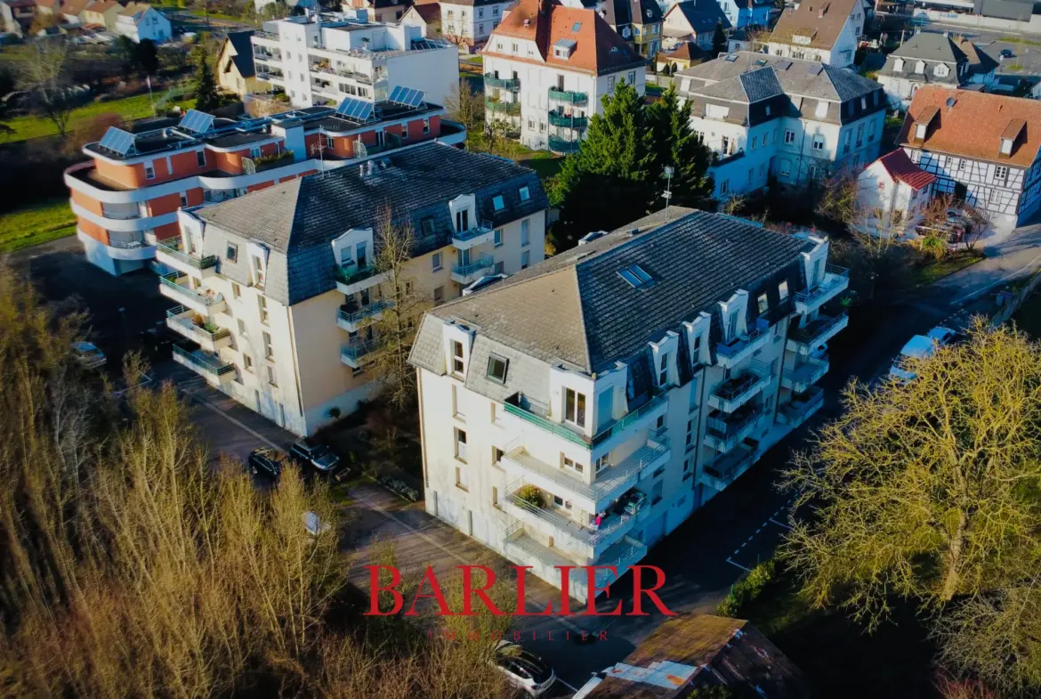
{"type": "MultiPolygon", "coordinates": [[[[676,85],[648,107],[648,124],[655,148],[654,172],[664,185],[664,168],[671,166],[671,203],[694,208],[711,208],[714,184],[706,175],[712,153],[690,128],[690,104],[680,100],[676,85]]],[[[657,207],[654,207],[657,208],[657,207]]]]}

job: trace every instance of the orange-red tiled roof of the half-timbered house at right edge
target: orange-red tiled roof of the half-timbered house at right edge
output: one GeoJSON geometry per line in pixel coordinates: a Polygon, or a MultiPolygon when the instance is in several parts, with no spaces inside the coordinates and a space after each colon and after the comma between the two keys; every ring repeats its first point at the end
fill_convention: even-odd
{"type": "Polygon", "coordinates": [[[1041,102],[939,85],[915,93],[896,142],[911,148],[960,155],[1001,165],[1030,167],[1041,148],[1041,102]],[[950,106],[947,100],[953,100],[950,106]],[[1022,122],[1011,155],[1002,155],[1001,136],[1022,122]],[[928,124],[925,138],[916,126],[928,124]]]}

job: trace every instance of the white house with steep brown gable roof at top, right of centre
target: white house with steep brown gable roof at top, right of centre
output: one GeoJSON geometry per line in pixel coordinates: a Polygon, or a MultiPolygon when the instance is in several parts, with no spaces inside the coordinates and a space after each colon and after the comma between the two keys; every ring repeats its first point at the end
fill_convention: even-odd
{"type": "Polygon", "coordinates": [[[865,20],[861,0],[807,0],[781,14],[767,50],[776,56],[848,68],[865,20]]]}

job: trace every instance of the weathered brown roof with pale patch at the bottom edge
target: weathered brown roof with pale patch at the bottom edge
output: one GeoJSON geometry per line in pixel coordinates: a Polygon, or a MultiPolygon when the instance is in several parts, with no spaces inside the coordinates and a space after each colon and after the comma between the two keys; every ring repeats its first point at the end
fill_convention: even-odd
{"type": "Polygon", "coordinates": [[[750,622],[696,615],[659,626],[625,660],[593,675],[574,699],[681,699],[720,686],[742,697],[810,697],[799,669],[750,622]]]}

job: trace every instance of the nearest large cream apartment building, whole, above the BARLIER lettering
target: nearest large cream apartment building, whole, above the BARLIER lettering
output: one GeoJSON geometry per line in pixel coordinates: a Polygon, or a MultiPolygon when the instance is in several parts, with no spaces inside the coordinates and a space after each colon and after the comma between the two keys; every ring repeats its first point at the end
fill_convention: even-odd
{"type": "Polygon", "coordinates": [[[558,588],[623,574],[823,401],[828,242],[672,211],[434,308],[412,350],[427,509],[558,588]]]}

